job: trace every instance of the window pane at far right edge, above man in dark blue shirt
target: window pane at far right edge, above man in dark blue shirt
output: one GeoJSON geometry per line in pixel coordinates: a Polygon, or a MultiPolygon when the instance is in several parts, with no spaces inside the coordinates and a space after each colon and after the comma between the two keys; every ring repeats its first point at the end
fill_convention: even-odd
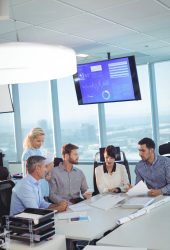
{"type": "Polygon", "coordinates": [[[160,144],[170,141],[170,61],[155,64],[160,144]]]}

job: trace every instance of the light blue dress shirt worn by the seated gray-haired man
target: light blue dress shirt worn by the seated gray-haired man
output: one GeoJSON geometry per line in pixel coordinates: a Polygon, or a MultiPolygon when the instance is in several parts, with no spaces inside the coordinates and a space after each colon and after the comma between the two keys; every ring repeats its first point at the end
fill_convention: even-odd
{"type": "Polygon", "coordinates": [[[10,215],[26,208],[48,208],[50,204],[42,196],[40,182],[28,174],[12,190],[10,215]]]}

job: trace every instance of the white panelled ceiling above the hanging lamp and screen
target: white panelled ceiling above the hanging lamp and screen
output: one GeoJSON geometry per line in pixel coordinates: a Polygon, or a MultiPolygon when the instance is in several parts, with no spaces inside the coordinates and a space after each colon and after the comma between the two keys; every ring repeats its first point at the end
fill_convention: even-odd
{"type": "Polygon", "coordinates": [[[170,59],[170,0],[9,0],[0,43],[60,44],[89,57],[135,55],[138,64],[170,59]],[[16,35],[17,34],[17,35],[16,35]]]}

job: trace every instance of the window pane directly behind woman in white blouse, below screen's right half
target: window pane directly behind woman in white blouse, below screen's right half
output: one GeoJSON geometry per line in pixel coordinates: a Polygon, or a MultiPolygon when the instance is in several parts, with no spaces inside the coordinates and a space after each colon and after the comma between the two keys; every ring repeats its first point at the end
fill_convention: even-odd
{"type": "Polygon", "coordinates": [[[152,136],[147,65],[137,70],[142,100],[105,104],[107,145],[120,146],[128,160],[139,159],[137,142],[152,136]]]}

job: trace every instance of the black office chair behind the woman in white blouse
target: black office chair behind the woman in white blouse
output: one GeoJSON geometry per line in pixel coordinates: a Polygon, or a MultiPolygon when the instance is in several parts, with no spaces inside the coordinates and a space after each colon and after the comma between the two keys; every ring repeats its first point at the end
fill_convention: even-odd
{"type": "MultiPolygon", "coordinates": [[[[127,174],[128,174],[128,178],[129,178],[129,183],[131,184],[131,174],[130,174],[129,163],[126,158],[126,155],[122,150],[120,150],[120,147],[115,147],[115,148],[116,148],[115,162],[123,164],[125,166],[127,174]]],[[[94,166],[93,167],[93,186],[94,186],[93,195],[99,194],[99,190],[96,184],[95,168],[104,163],[104,150],[105,148],[100,148],[99,152],[96,153],[96,156],[95,156],[95,161],[93,165],[94,166]]]]}

